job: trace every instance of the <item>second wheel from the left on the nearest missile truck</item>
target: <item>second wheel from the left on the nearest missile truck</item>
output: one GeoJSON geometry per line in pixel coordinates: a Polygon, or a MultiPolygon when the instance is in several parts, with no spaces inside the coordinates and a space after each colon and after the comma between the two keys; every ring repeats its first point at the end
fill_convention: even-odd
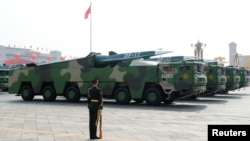
{"type": "Polygon", "coordinates": [[[52,86],[45,86],[42,90],[42,95],[44,101],[56,100],[56,92],[52,86]]]}

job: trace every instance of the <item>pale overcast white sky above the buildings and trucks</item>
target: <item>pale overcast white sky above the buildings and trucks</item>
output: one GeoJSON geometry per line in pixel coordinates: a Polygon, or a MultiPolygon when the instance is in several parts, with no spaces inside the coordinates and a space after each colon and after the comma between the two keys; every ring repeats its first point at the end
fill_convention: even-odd
{"type": "MultiPolygon", "coordinates": [[[[173,51],[228,60],[229,43],[250,55],[248,0],[92,0],[92,51],[108,54],[173,51]]],[[[90,52],[89,0],[0,0],[0,45],[59,50],[83,57],[90,52]]],[[[166,56],[167,56],[166,55],[166,56]]]]}

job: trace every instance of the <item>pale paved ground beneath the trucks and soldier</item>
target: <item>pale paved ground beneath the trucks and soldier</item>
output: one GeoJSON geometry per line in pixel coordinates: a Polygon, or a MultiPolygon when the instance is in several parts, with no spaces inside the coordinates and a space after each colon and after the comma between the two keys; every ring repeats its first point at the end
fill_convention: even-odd
{"type": "MultiPolygon", "coordinates": [[[[103,109],[103,141],[206,141],[209,124],[250,124],[250,88],[171,105],[117,105],[103,109]]],[[[0,92],[0,141],[87,141],[85,99],[23,101],[0,92]]]]}

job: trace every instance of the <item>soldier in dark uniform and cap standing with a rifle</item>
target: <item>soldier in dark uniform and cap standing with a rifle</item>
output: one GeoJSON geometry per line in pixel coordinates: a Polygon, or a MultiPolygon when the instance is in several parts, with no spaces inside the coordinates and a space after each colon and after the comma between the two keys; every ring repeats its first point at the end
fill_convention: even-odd
{"type": "Polygon", "coordinates": [[[100,139],[96,136],[99,112],[102,110],[102,89],[98,87],[98,79],[92,80],[92,87],[88,89],[88,108],[89,108],[89,133],[90,139],[100,139]]]}

